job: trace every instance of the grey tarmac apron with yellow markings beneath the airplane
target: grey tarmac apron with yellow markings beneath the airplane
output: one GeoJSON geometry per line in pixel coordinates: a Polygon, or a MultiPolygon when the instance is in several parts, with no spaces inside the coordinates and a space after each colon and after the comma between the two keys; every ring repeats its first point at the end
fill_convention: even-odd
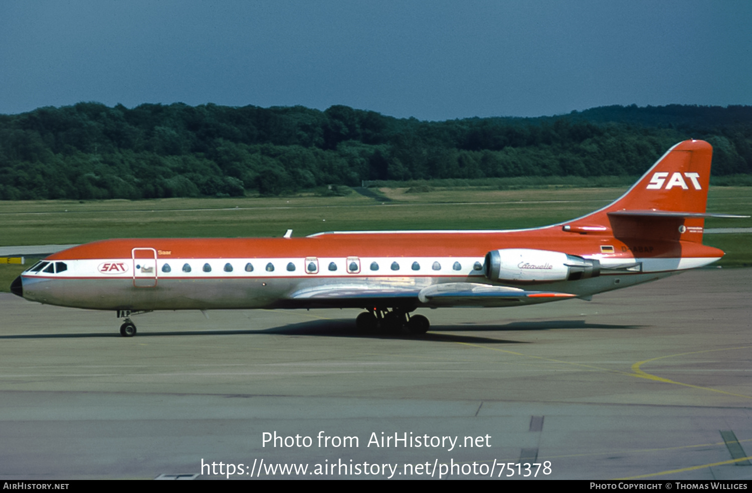
{"type": "Polygon", "coordinates": [[[752,270],[702,269],[421,337],[239,310],[122,338],[0,293],[0,479],[752,479],[750,299],[752,270]]]}

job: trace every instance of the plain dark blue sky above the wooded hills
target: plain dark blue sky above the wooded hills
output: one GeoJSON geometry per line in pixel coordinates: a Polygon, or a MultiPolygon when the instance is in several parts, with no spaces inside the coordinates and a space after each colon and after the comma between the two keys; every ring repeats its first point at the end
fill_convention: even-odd
{"type": "Polygon", "coordinates": [[[182,101],[391,116],[752,104],[752,2],[0,2],[0,113],[182,101]]]}

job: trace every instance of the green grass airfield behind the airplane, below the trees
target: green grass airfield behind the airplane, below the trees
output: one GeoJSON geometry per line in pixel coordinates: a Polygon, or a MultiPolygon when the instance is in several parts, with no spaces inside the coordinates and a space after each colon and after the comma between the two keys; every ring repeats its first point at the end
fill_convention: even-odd
{"type": "MultiPolygon", "coordinates": [[[[473,187],[408,193],[382,188],[386,200],[271,197],[0,202],[0,246],[84,243],[126,237],[293,236],[332,230],[484,230],[553,224],[607,205],[625,188],[473,187]]],[[[708,212],[752,215],[752,189],[711,187],[708,212]]],[[[705,227],[752,227],[752,219],[708,219],[705,227]]],[[[720,266],[752,266],[752,235],[706,235],[726,251],[720,266]]],[[[29,264],[27,263],[26,266],[29,264]]],[[[23,266],[0,264],[0,290],[23,266]]]]}

